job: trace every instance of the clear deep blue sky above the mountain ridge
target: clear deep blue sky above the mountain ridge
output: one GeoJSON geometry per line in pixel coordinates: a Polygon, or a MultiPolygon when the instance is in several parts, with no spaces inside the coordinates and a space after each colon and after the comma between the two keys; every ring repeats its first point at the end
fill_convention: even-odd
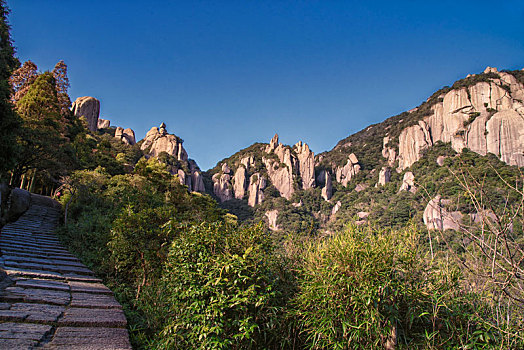
{"type": "Polygon", "coordinates": [[[7,0],[18,57],[202,169],[278,132],[315,153],[488,65],[524,68],[524,1],[7,0]]]}

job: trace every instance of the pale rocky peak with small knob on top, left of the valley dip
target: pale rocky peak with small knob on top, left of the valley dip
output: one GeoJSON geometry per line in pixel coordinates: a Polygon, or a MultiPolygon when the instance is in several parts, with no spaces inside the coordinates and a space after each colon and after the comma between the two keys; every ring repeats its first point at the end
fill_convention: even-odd
{"type": "MultiPolygon", "coordinates": [[[[132,133],[132,141],[134,141],[135,135],[131,129],[117,129],[117,133],[123,141],[128,140],[128,142],[131,139],[130,133],[132,133]]],[[[115,137],[117,137],[116,133],[115,137]]],[[[181,184],[186,185],[190,191],[205,192],[200,168],[194,160],[188,158],[182,146],[183,141],[178,136],[169,134],[164,123],[158,128],[151,128],[141,142],[140,149],[146,152],[147,156],[167,155],[169,157],[166,161],[170,171],[173,175],[178,175],[181,184]]]]}

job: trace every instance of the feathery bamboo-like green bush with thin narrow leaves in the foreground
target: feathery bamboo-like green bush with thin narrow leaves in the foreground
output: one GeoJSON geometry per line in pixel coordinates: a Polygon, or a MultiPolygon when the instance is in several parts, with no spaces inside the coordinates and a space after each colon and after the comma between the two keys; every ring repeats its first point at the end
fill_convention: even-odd
{"type": "Polygon", "coordinates": [[[482,305],[460,292],[456,270],[426,261],[413,229],[349,227],[304,259],[294,313],[308,348],[382,349],[393,337],[401,348],[452,348],[489,333],[472,314],[482,305]]]}

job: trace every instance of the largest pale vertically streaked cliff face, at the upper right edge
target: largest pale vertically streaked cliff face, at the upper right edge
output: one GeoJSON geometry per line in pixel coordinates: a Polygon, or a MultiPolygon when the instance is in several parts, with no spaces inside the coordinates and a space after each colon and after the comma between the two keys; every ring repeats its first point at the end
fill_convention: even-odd
{"type": "MultiPolygon", "coordinates": [[[[490,74],[487,81],[443,94],[429,116],[401,132],[400,170],[419,160],[421,152],[437,141],[450,142],[457,152],[467,147],[524,166],[524,85],[496,68],[488,67],[485,73],[490,74]]],[[[383,155],[389,157],[388,151],[384,149],[383,155]]]]}

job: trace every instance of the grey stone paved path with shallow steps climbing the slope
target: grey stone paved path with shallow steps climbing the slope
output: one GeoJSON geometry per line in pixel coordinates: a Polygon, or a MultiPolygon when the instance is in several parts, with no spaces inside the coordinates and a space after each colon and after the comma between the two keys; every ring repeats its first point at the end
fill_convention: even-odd
{"type": "Polygon", "coordinates": [[[30,209],[0,234],[0,349],[131,349],[112,292],[53,234],[60,208],[32,195],[30,209]]]}

